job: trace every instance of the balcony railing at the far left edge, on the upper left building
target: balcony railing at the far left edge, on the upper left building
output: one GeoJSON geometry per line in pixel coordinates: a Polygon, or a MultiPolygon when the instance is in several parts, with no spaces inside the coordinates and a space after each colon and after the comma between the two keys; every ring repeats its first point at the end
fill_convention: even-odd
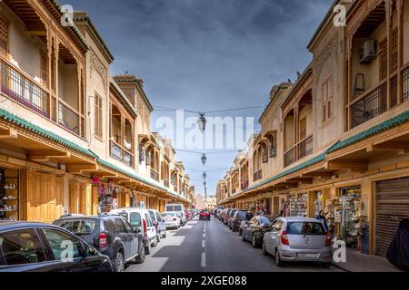
{"type": "Polygon", "coordinates": [[[1,91],[25,107],[49,116],[49,93],[14,67],[1,61],[1,91]]]}

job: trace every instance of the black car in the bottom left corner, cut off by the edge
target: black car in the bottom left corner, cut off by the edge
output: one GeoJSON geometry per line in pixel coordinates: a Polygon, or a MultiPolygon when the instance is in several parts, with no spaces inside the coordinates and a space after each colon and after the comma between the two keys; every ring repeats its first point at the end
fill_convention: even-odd
{"type": "Polygon", "coordinates": [[[112,272],[108,256],[62,227],[0,221],[0,272],[112,272]]]}

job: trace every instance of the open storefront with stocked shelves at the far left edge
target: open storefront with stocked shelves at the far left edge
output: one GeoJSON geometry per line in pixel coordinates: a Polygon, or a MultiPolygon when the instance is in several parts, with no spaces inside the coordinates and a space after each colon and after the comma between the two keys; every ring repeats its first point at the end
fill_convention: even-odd
{"type": "Polygon", "coordinates": [[[19,219],[19,171],[0,169],[0,220],[19,219]]]}

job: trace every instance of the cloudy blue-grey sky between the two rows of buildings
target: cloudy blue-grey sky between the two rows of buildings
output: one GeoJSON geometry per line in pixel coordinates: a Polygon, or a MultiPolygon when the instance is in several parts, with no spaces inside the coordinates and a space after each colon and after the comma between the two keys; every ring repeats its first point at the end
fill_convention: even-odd
{"type": "MultiPolygon", "coordinates": [[[[156,109],[188,111],[251,110],[206,117],[254,117],[254,131],[274,84],[296,79],[312,60],[306,46],[332,0],[60,0],[86,11],[115,56],[112,74],[133,73],[156,109]]],[[[186,117],[197,114],[185,112],[186,117]]],[[[175,121],[175,111],[154,111],[175,121]]],[[[244,129],[247,129],[244,126],[244,129]]],[[[226,130],[224,130],[224,135],[226,130]]],[[[215,139],[225,138],[214,135],[215,139]]],[[[175,144],[174,144],[175,146],[175,144]]],[[[183,146],[180,146],[183,147],[183,146]]],[[[191,148],[178,148],[191,150],[191,148]]],[[[201,155],[178,151],[196,193],[215,193],[233,166],[235,147],[201,155]]]]}

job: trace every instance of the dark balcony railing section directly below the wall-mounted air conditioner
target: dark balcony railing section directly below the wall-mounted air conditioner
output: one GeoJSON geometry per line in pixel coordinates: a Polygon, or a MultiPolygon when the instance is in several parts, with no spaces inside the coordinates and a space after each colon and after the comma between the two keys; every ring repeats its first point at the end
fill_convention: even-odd
{"type": "Polygon", "coordinates": [[[368,92],[362,99],[351,106],[352,128],[363,124],[384,113],[387,110],[386,82],[373,91],[368,92]]]}

